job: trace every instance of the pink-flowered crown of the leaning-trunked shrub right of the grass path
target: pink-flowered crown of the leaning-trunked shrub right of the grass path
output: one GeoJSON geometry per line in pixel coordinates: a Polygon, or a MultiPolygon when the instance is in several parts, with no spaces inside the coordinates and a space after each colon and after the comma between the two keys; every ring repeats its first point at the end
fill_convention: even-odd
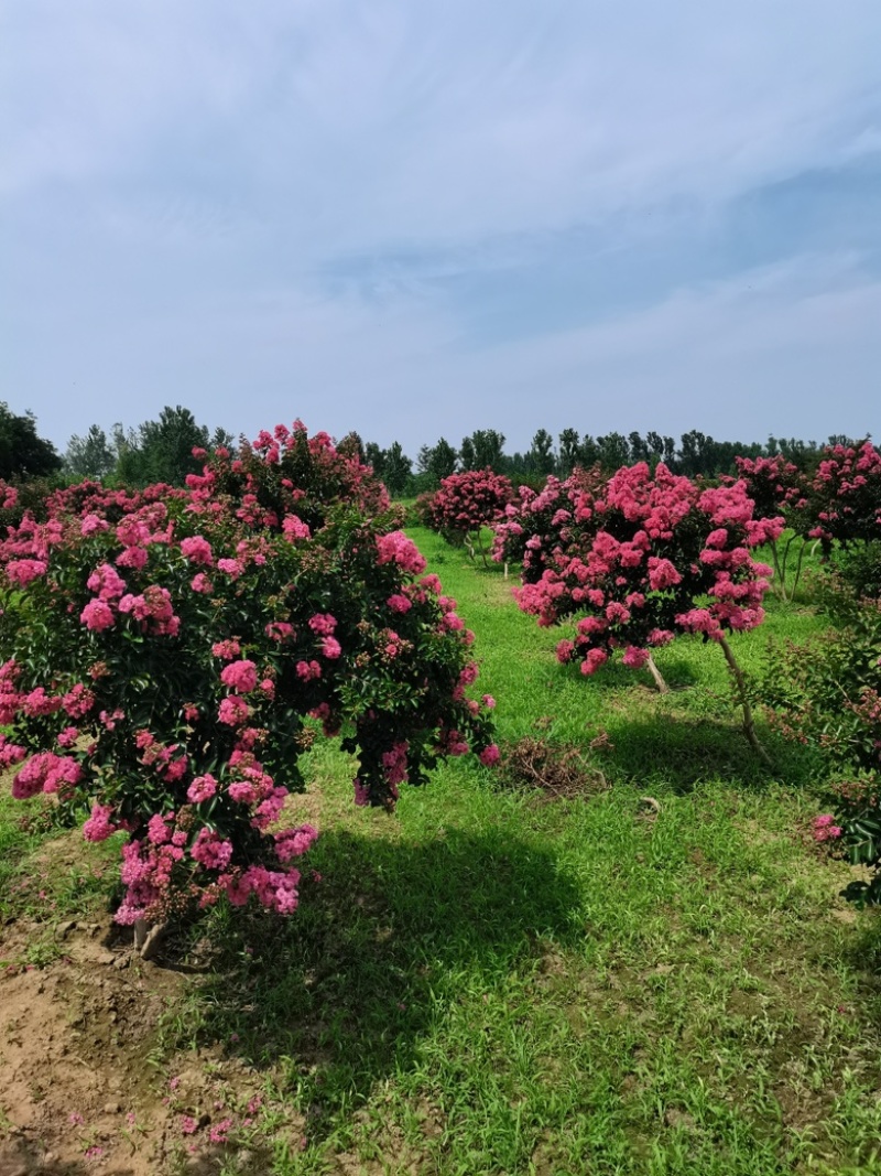
{"type": "MultiPolygon", "coordinates": [[[[522,506],[531,535],[516,590],[539,624],[580,614],[576,640],[557,647],[561,662],[578,660],[592,674],[624,649],[626,664],[641,666],[677,633],[722,641],[760,623],[771,569],[751,553],[784,520],[756,519],[744,482],[705,488],[639,462],[594,489],[564,487],[549,480],[547,502],[539,495],[522,506]]],[[[517,522],[499,528],[496,557],[517,522]]]]}

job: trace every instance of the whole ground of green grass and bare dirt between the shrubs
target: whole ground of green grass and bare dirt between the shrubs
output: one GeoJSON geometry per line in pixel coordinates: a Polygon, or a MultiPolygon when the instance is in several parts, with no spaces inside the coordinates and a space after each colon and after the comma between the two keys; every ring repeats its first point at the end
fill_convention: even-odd
{"type": "MultiPolygon", "coordinates": [[[[389,815],[317,735],[289,918],[217,907],[143,962],[117,840],[4,788],[0,1174],[881,1172],[881,922],[814,841],[813,753],[760,719],[758,759],[712,642],[655,653],[666,695],[585,677],[498,566],[408,534],[503,762],[450,759],[389,815]]],[[[826,623],[766,606],[732,639],[752,675],[826,623]]]]}

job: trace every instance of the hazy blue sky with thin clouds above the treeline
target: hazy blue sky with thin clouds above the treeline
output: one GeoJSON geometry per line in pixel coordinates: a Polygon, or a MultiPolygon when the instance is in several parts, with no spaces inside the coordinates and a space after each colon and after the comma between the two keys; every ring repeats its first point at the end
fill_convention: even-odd
{"type": "Polygon", "coordinates": [[[0,400],[881,435],[877,0],[0,0],[0,400]]]}

